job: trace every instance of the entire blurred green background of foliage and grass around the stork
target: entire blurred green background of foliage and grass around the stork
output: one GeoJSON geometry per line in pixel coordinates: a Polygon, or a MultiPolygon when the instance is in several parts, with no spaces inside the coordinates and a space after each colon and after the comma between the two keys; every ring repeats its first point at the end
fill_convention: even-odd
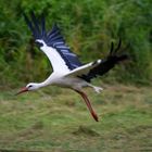
{"type": "Polygon", "coordinates": [[[0,0],[0,151],[152,151],[151,0],[0,0]],[[83,99],[59,87],[14,96],[29,81],[51,74],[23,12],[45,13],[47,29],[58,23],[84,63],[104,59],[122,39],[129,60],[93,80],[104,90],[83,99]]]}

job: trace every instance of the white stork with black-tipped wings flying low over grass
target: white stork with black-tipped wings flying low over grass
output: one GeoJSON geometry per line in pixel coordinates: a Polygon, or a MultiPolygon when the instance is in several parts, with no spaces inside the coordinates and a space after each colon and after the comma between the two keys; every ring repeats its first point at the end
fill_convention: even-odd
{"type": "Polygon", "coordinates": [[[91,79],[98,75],[102,76],[114,67],[117,63],[127,59],[126,54],[117,54],[121,48],[121,40],[116,49],[111,46],[109,55],[104,60],[97,60],[88,64],[83,64],[77,55],[66,46],[63,36],[56,24],[53,25],[51,31],[46,30],[46,22],[43,15],[40,21],[36,18],[31,12],[30,18],[24,14],[25,21],[30,28],[35,42],[40,50],[48,56],[52,64],[52,74],[42,83],[30,83],[22,88],[18,93],[37,90],[48,85],[55,85],[69,88],[79,93],[85,100],[91,115],[98,122],[98,115],[93,111],[87,94],[83,91],[84,87],[91,87],[96,92],[100,92],[102,88],[91,85],[91,79]]]}

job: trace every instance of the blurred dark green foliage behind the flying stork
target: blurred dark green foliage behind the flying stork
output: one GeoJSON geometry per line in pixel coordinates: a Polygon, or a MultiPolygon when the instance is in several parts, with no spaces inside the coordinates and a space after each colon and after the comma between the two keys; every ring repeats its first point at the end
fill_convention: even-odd
{"type": "Polygon", "coordinates": [[[45,13],[49,29],[56,22],[68,46],[84,62],[104,58],[111,41],[117,43],[121,37],[123,48],[129,45],[126,51],[130,60],[111,72],[110,79],[149,83],[152,77],[151,8],[151,0],[1,0],[1,86],[40,81],[50,74],[50,63],[36,49],[22,16],[31,10],[36,14],[45,13]]]}

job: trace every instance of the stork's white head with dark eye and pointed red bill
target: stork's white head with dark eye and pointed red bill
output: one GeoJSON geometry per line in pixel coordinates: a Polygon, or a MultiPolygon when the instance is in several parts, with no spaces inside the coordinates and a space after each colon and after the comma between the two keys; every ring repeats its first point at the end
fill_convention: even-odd
{"type": "Polygon", "coordinates": [[[39,85],[36,83],[29,83],[26,87],[23,87],[16,94],[27,92],[27,91],[33,91],[37,90],[39,88],[39,85]]]}

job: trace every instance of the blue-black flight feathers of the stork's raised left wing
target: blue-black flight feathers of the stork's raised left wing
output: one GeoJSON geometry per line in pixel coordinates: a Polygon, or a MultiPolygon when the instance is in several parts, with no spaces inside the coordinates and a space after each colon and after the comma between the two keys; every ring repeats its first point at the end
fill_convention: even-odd
{"type": "MultiPolygon", "coordinates": [[[[68,66],[69,69],[74,69],[83,65],[81,62],[78,60],[77,55],[74,54],[66,46],[60,28],[56,24],[53,24],[52,30],[47,33],[43,14],[41,15],[40,23],[34,12],[30,12],[31,21],[25,14],[24,18],[29,26],[29,29],[31,30],[35,40],[41,39],[48,47],[54,48],[65,61],[65,64],[68,66]]],[[[39,45],[38,47],[41,47],[41,45],[39,45]]]]}

